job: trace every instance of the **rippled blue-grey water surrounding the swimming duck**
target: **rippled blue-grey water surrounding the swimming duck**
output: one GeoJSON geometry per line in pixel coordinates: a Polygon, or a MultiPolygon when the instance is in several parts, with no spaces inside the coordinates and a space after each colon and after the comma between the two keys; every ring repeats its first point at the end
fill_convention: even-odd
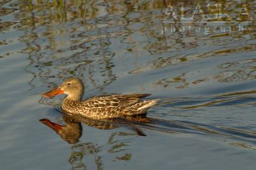
{"type": "Polygon", "coordinates": [[[254,169],[255,1],[229,2],[231,21],[199,14],[189,32],[166,1],[1,1],[1,169],[254,169]],[[84,98],[161,100],[146,117],[67,118],[64,96],[41,94],[69,76],[84,98]]]}

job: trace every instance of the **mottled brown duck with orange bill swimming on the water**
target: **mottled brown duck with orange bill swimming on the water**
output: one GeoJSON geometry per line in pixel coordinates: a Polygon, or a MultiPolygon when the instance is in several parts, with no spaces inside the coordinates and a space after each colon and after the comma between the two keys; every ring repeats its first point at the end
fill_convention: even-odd
{"type": "Polygon", "coordinates": [[[43,93],[43,97],[67,95],[61,109],[70,115],[91,119],[122,118],[125,116],[145,115],[151,106],[157,104],[158,99],[142,100],[151,94],[132,95],[100,95],[82,100],[85,87],[77,77],[68,77],[61,86],[43,93]]]}

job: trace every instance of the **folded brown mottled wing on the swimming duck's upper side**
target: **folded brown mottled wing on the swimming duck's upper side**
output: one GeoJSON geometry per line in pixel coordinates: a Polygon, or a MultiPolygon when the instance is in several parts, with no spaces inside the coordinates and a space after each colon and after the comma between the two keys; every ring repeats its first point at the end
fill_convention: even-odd
{"type": "Polygon", "coordinates": [[[90,107],[106,107],[106,106],[130,106],[137,102],[143,97],[151,94],[133,94],[133,95],[102,95],[93,96],[83,101],[83,104],[88,104],[90,107]]]}

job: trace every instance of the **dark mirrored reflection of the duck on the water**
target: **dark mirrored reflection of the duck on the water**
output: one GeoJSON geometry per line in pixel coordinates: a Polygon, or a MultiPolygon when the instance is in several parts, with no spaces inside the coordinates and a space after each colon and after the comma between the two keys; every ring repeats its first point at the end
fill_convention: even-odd
{"type": "Polygon", "coordinates": [[[70,144],[77,143],[79,138],[82,136],[82,122],[90,127],[99,128],[101,130],[111,130],[118,127],[127,127],[130,130],[135,131],[138,136],[146,136],[145,133],[140,130],[136,123],[146,123],[151,124],[149,118],[145,115],[138,115],[136,117],[125,117],[118,119],[89,119],[85,117],[74,117],[71,115],[63,114],[63,121],[65,125],[60,125],[49,119],[39,119],[40,122],[52,128],[60,137],[70,144]]]}

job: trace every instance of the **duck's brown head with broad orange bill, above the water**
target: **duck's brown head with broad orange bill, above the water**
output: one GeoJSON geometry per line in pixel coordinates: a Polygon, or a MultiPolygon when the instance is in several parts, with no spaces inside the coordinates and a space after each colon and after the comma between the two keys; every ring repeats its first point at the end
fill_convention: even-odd
{"type": "Polygon", "coordinates": [[[69,99],[81,100],[83,96],[83,83],[79,78],[68,77],[61,86],[43,93],[44,97],[54,97],[55,95],[66,94],[69,99]]]}

